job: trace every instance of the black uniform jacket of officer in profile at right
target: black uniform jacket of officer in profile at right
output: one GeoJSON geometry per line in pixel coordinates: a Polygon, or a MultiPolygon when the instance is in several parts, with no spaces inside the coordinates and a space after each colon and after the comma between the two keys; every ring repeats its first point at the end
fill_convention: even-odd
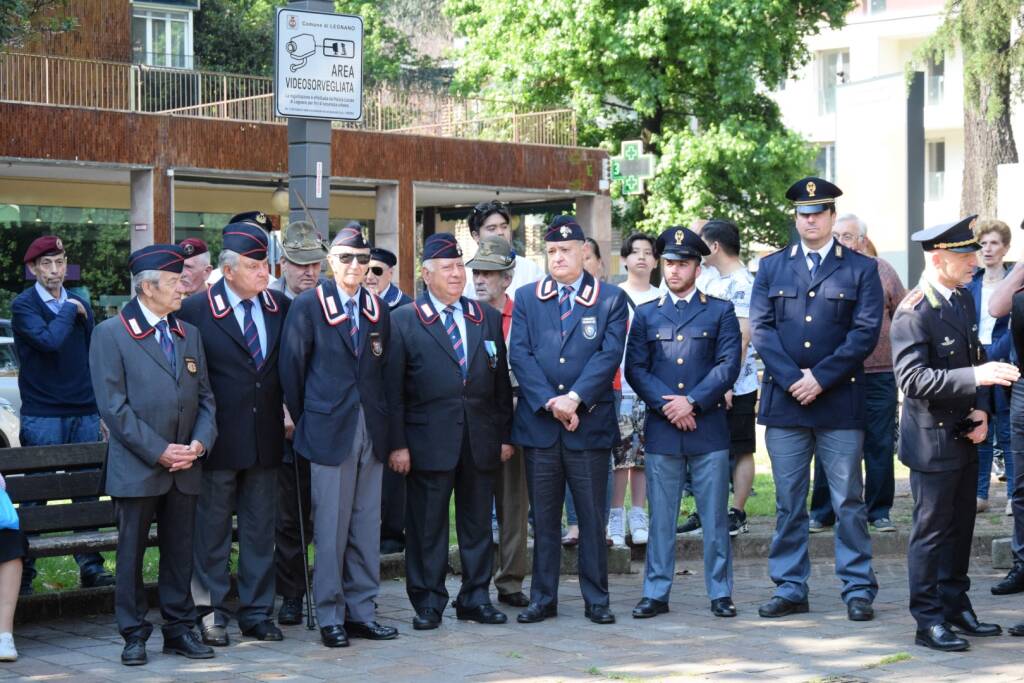
{"type": "Polygon", "coordinates": [[[927,283],[910,291],[892,326],[893,370],[903,391],[899,459],[913,470],[942,472],[978,458],[977,447],[953,438],[957,422],[975,408],[992,415],[989,387],[978,387],[973,367],[986,361],[978,341],[974,301],[954,294],[969,323],[927,283]]]}

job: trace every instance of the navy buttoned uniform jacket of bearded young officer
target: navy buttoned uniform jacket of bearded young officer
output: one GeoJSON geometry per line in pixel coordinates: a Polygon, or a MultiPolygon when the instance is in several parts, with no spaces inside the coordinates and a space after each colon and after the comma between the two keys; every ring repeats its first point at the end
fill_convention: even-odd
{"type": "Polygon", "coordinates": [[[637,307],[626,347],[626,381],[647,404],[644,451],[697,456],[729,447],[722,398],[739,377],[739,323],[732,303],[694,292],[682,311],[668,294],[637,307]],[[683,431],[662,412],[667,395],[690,396],[697,428],[683,431]]]}

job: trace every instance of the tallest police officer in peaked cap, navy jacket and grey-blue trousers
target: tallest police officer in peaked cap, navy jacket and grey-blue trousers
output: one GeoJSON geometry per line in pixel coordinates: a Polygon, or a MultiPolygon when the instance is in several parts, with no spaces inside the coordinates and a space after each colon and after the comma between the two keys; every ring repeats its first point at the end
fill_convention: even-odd
{"type": "Polygon", "coordinates": [[[807,489],[811,457],[828,477],[836,522],[836,573],[851,621],[874,616],[860,463],[864,441],[863,361],[882,325],[874,260],[831,236],[842,190],[821,178],[795,182],[800,241],[761,260],[751,299],[754,347],[765,364],[758,421],[775,478],[775,535],[768,571],[775,596],[758,613],[808,610],[807,489]]]}

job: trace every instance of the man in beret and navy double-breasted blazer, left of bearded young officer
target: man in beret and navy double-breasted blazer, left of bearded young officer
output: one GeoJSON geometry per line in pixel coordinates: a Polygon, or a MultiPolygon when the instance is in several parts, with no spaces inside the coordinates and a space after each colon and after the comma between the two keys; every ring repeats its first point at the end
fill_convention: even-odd
{"type": "Polygon", "coordinates": [[[516,292],[509,342],[519,381],[512,440],[524,449],[534,509],[530,602],[517,621],[558,613],[561,519],[568,482],[580,517],[585,615],[613,624],[604,541],[608,458],[618,439],[611,382],[626,342],[626,294],[583,268],[583,228],[572,216],[548,226],[548,270],[516,292]]]}

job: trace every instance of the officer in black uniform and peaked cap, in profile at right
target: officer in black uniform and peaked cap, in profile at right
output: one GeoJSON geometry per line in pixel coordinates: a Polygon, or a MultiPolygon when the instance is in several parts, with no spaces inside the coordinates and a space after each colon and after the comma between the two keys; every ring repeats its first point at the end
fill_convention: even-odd
{"type": "Polygon", "coordinates": [[[910,468],[913,528],[907,550],[914,642],[963,651],[955,632],[997,636],[978,621],[968,597],[976,513],[978,443],[994,412],[992,389],[1020,379],[1016,366],[986,362],[978,341],[974,300],[961,289],[971,280],[975,216],[920,230],[911,240],[927,252],[921,284],[896,310],[893,369],[903,391],[899,458],[910,468]]]}

